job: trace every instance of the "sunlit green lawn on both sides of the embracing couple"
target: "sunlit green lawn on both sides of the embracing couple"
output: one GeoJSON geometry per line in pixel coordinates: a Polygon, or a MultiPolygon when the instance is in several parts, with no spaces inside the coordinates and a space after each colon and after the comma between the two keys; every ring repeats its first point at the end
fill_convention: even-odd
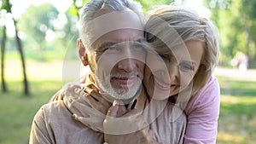
{"type": "MultiPolygon", "coordinates": [[[[16,66],[9,63],[7,66],[16,66]]],[[[9,93],[0,91],[0,144],[28,143],[32,118],[44,103],[61,89],[60,63],[47,64],[28,62],[31,95],[23,95],[20,76],[9,68],[9,93]],[[41,67],[38,67],[41,66],[41,67]],[[49,66],[49,67],[47,67],[49,66]],[[55,74],[46,68],[55,67],[55,74]],[[11,76],[11,77],[10,77],[11,76]]],[[[218,120],[218,144],[247,144],[256,141],[256,83],[255,81],[218,76],[221,87],[221,106],[218,120]]]]}

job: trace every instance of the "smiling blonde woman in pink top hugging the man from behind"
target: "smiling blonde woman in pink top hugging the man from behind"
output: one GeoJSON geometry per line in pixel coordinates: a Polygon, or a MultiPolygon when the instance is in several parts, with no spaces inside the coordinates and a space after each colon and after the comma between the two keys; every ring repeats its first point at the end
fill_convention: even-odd
{"type": "Polygon", "coordinates": [[[151,12],[145,32],[148,43],[165,61],[171,82],[152,74],[163,68],[151,59],[148,63],[158,68],[144,72],[148,95],[165,98],[160,92],[171,89],[169,101],[181,107],[188,119],[185,144],[216,143],[220,94],[212,72],[218,63],[217,28],[190,9],[164,6],[151,12]]]}

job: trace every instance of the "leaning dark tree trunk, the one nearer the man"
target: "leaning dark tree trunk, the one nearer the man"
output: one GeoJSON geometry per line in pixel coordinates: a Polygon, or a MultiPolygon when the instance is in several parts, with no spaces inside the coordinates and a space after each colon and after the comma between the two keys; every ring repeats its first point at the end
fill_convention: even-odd
{"type": "Polygon", "coordinates": [[[20,41],[20,37],[18,35],[18,30],[17,30],[17,26],[16,26],[16,21],[15,20],[14,20],[14,23],[15,23],[15,39],[16,39],[16,43],[17,43],[17,49],[18,49],[18,51],[20,53],[22,72],[23,72],[24,94],[25,95],[29,95],[28,81],[27,81],[27,78],[26,78],[25,58],[24,58],[24,54],[23,54],[23,50],[22,50],[22,44],[21,44],[21,41],[20,41]]]}

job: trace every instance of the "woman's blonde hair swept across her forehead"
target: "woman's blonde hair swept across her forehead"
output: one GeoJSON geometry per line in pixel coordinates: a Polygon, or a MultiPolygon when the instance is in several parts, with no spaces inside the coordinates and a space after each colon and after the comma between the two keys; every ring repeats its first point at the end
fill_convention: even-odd
{"type": "Polygon", "coordinates": [[[149,14],[145,37],[158,53],[170,53],[173,46],[192,39],[203,41],[205,47],[201,66],[189,84],[193,85],[192,95],[207,84],[218,63],[219,54],[218,29],[211,20],[201,18],[195,11],[181,6],[162,6],[149,14]]]}

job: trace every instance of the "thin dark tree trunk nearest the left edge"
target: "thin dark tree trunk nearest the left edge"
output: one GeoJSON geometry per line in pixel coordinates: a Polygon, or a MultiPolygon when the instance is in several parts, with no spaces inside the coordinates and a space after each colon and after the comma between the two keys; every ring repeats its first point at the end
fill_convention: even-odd
{"type": "Polygon", "coordinates": [[[5,54],[5,43],[6,43],[6,26],[3,26],[3,39],[1,43],[1,82],[3,92],[7,92],[7,87],[4,79],[4,54],[5,54]]]}

